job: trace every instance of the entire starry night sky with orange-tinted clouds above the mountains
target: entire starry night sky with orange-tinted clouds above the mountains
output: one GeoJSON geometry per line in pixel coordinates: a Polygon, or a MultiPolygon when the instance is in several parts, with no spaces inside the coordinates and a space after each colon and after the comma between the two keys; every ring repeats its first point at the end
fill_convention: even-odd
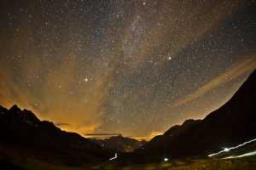
{"type": "Polygon", "coordinates": [[[3,0],[0,105],[67,131],[150,139],[256,68],[254,0],[3,0]]]}

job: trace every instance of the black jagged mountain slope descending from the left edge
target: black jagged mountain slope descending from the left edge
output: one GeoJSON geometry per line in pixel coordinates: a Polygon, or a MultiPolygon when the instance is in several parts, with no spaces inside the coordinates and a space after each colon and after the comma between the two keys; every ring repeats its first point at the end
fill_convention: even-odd
{"type": "Polygon", "coordinates": [[[53,122],[40,121],[32,111],[21,111],[17,105],[9,110],[0,106],[0,152],[70,166],[104,161],[110,156],[90,139],[62,131],[53,122]]]}

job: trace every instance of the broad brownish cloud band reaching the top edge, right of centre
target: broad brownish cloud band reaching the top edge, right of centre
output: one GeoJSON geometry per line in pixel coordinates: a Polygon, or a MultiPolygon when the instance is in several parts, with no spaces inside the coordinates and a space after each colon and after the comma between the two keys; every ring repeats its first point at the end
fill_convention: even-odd
{"type": "Polygon", "coordinates": [[[140,2],[134,1],[135,8],[125,22],[125,34],[120,45],[125,61],[131,63],[127,69],[132,73],[150,59],[161,63],[167,56],[175,58],[191,42],[198,42],[208,32],[217,29],[240,1],[152,1],[143,10],[140,2]],[[184,9],[182,12],[181,8],[184,9]]]}

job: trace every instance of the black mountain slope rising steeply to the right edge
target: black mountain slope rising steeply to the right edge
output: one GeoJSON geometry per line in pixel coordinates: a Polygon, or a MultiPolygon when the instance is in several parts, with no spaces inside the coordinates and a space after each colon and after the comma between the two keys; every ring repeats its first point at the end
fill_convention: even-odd
{"type": "Polygon", "coordinates": [[[207,156],[256,139],[256,71],[234,96],[203,120],[188,120],[135,150],[134,156],[207,156]]]}

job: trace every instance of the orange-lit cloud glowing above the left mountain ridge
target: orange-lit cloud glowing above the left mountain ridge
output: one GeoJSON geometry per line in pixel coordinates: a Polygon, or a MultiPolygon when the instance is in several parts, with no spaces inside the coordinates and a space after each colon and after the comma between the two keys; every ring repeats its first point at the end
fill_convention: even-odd
{"type": "Polygon", "coordinates": [[[108,83],[112,82],[111,68],[106,71],[88,66],[84,77],[90,81],[84,82],[76,70],[82,63],[74,57],[62,57],[57,64],[52,61],[48,65],[40,59],[20,60],[18,74],[13,67],[0,68],[0,105],[19,105],[41,120],[57,122],[57,126],[67,131],[81,134],[95,131],[102,121],[108,83]]]}

